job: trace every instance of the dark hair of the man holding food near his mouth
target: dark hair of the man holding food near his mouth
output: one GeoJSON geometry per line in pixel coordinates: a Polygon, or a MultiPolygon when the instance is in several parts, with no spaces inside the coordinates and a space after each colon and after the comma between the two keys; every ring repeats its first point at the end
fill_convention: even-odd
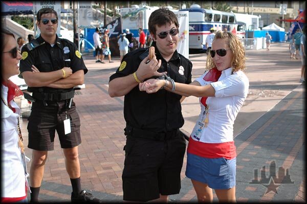
{"type": "Polygon", "coordinates": [[[156,11],[153,11],[149,17],[148,20],[148,29],[149,33],[156,36],[156,25],[158,27],[164,26],[166,24],[174,24],[176,28],[179,28],[179,22],[177,19],[176,14],[174,14],[172,11],[161,8],[157,9],[156,11]]]}

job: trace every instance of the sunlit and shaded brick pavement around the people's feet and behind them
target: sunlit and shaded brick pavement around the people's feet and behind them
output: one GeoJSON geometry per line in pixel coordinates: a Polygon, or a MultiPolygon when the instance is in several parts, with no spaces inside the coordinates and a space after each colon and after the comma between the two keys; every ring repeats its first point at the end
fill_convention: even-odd
{"type": "MultiPolygon", "coordinates": [[[[249,95],[234,123],[238,202],[306,202],[305,83],[299,82],[301,62],[290,59],[288,46],[272,43],[270,51],[246,51],[249,95]]],[[[189,58],[193,78],[203,74],[206,54],[190,54],[189,58]]],[[[91,54],[83,54],[83,59],[89,72],[85,75],[85,88],[77,90],[74,97],[81,120],[82,189],[104,202],[122,202],[123,97],[111,98],[107,94],[108,79],[119,67],[119,58],[104,64],[95,63],[91,54]]],[[[182,111],[185,118],[182,130],[191,132],[200,111],[199,99],[185,99],[182,111]]],[[[25,146],[27,123],[23,118],[25,146]]],[[[54,145],[55,150],[48,153],[39,200],[70,202],[72,188],[58,139],[54,145]]],[[[27,147],[25,151],[31,155],[27,147]]],[[[169,202],[197,202],[185,167],[186,155],[181,191],[169,196],[169,202]]],[[[213,201],[218,201],[215,194],[213,201]]]]}

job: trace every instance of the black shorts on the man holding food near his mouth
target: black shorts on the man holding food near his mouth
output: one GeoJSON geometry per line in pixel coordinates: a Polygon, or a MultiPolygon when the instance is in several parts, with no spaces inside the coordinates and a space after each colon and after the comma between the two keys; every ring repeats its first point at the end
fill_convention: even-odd
{"type": "Polygon", "coordinates": [[[123,200],[148,201],[178,194],[186,142],[181,132],[166,141],[127,136],[123,200]]]}

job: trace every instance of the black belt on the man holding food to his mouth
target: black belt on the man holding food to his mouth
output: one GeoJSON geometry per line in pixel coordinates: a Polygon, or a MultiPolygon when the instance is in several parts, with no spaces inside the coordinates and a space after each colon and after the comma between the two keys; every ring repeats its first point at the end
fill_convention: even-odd
{"type": "Polygon", "coordinates": [[[150,139],[150,140],[160,140],[160,141],[175,138],[180,132],[179,129],[169,132],[152,132],[148,130],[131,127],[129,125],[127,125],[124,130],[125,130],[125,135],[137,138],[150,139]]]}

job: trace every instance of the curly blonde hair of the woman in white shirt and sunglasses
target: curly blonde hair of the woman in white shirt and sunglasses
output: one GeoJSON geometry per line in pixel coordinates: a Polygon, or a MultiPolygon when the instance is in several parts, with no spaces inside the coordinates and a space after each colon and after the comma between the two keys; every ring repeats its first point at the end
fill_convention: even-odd
{"type": "MultiPolygon", "coordinates": [[[[218,31],[215,36],[214,40],[216,39],[227,39],[227,44],[230,48],[230,50],[233,53],[233,59],[231,60],[231,66],[232,66],[232,73],[242,70],[244,71],[246,69],[245,67],[245,48],[240,42],[239,38],[236,37],[231,32],[224,32],[224,31],[218,31]]],[[[207,62],[206,62],[206,70],[211,70],[215,67],[215,64],[213,62],[213,59],[211,55],[209,54],[207,56],[207,62]]]]}

